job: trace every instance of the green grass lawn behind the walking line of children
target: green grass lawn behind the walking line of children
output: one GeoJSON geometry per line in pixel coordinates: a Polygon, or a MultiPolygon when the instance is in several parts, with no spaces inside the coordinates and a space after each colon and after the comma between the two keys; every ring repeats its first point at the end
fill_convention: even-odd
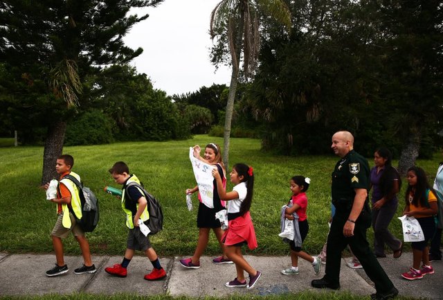
{"type": "MultiPolygon", "coordinates": [[[[114,143],[111,145],[77,146],[64,148],[65,154],[75,158],[73,170],[79,173],[85,185],[95,191],[100,200],[100,223],[89,233],[93,254],[122,254],[126,247],[127,229],[120,202],[103,191],[107,185],[118,187],[107,170],[116,161],[125,161],[132,173],[145,184],[163,206],[164,230],[152,237],[152,244],[161,256],[187,256],[197,243],[197,209],[188,211],[185,190],[195,186],[188,158],[190,146],[222,139],[206,135],[186,141],[114,143]]],[[[260,150],[256,139],[231,139],[230,164],[245,162],[255,171],[255,191],[251,215],[257,233],[258,248],[252,254],[288,254],[288,247],[278,237],[280,207],[289,200],[289,179],[293,175],[311,178],[309,198],[309,233],[304,247],[318,254],[327,235],[330,213],[330,175],[337,158],[328,156],[284,157],[260,150]]],[[[358,151],[358,145],[356,145],[358,151]]],[[[437,170],[436,155],[432,161],[417,161],[430,175],[437,170]]],[[[53,251],[51,229],[55,224],[55,204],[46,200],[39,188],[42,177],[42,147],[0,148],[0,251],[48,253],[53,251]]],[[[372,158],[369,159],[373,166],[372,158]]],[[[404,187],[406,184],[404,184],[404,187]]],[[[233,185],[228,184],[230,191],[233,185]]],[[[400,197],[404,195],[402,189],[400,197]]],[[[193,195],[197,208],[197,195],[193,195]]],[[[402,202],[401,202],[402,203],[402,202]]],[[[401,210],[399,208],[400,215],[401,210]]],[[[392,231],[401,236],[400,221],[391,224],[392,231]]],[[[372,232],[369,234],[372,240],[372,232]]],[[[72,237],[64,240],[66,254],[80,254],[72,237]]],[[[219,254],[218,242],[211,236],[207,255],[219,254]]]]}

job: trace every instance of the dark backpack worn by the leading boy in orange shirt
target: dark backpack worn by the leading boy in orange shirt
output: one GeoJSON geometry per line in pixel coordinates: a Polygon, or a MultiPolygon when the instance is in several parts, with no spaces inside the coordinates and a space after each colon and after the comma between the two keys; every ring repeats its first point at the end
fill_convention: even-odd
{"type": "Polygon", "coordinates": [[[66,175],[63,179],[69,179],[78,188],[78,194],[80,195],[80,204],[82,205],[82,218],[78,218],[75,215],[72,207],[69,211],[75,216],[75,221],[82,227],[84,232],[91,232],[96,229],[99,219],[98,213],[98,199],[96,195],[87,186],[83,186],[77,178],[73,175],[66,175]]]}

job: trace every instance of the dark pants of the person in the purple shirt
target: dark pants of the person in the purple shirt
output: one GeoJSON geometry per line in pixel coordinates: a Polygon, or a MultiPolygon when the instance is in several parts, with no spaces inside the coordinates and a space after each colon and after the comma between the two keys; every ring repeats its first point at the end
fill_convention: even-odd
{"type": "Polygon", "coordinates": [[[383,205],[381,209],[372,209],[372,228],[374,229],[374,252],[376,255],[385,254],[385,244],[396,251],[400,249],[401,241],[392,236],[388,226],[395,213],[397,205],[383,205]]]}

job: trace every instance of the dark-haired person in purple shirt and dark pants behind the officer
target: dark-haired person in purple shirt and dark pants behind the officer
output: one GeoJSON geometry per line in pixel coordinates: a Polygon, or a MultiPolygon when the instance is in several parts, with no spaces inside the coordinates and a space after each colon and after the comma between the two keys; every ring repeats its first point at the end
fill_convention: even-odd
{"type": "Polygon", "coordinates": [[[401,188],[400,175],[392,166],[392,153],[386,148],[379,148],[374,152],[374,163],[375,166],[370,174],[374,253],[377,257],[386,257],[384,252],[386,244],[394,252],[394,258],[399,258],[403,243],[392,236],[388,225],[399,204],[397,193],[401,188]]]}

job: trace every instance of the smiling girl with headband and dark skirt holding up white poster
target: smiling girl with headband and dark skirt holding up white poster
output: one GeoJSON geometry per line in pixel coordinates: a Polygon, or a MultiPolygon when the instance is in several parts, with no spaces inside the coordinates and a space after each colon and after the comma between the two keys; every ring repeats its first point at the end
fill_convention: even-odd
{"type": "MultiPolygon", "coordinates": [[[[226,175],[224,170],[224,164],[221,160],[221,150],[219,145],[215,143],[208,143],[205,147],[204,157],[200,157],[200,146],[195,145],[194,148],[194,157],[199,159],[205,164],[210,164],[212,166],[217,167],[219,174],[221,174],[221,185],[226,188],[226,175]]],[[[211,172],[211,170],[208,170],[211,172]]],[[[188,188],[186,190],[186,194],[192,194],[199,191],[199,186],[195,186],[194,188],[188,188]]],[[[190,258],[181,259],[180,264],[183,267],[189,269],[198,269],[200,267],[200,256],[203,255],[206,246],[208,245],[209,240],[209,232],[210,229],[213,229],[217,240],[220,243],[220,247],[223,250],[223,255],[213,259],[213,263],[222,264],[222,263],[233,263],[226,256],[226,251],[224,244],[221,242],[221,236],[223,236],[224,231],[221,230],[220,221],[215,218],[215,213],[221,211],[225,208],[224,202],[221,202],[219,193],[217,191],[217,182],[215,179],[213,180],[213,189],[212,191],[206,191],[206,193],[213,193],[213,207],[211,208],[210,203],[204,202],[201,200],[201,195],[199,193],[199,212],[197,213],[197,227],[199,228],[199,239],[197,240],[197,248],[195,249],[194,255],[190,258]]]]}

